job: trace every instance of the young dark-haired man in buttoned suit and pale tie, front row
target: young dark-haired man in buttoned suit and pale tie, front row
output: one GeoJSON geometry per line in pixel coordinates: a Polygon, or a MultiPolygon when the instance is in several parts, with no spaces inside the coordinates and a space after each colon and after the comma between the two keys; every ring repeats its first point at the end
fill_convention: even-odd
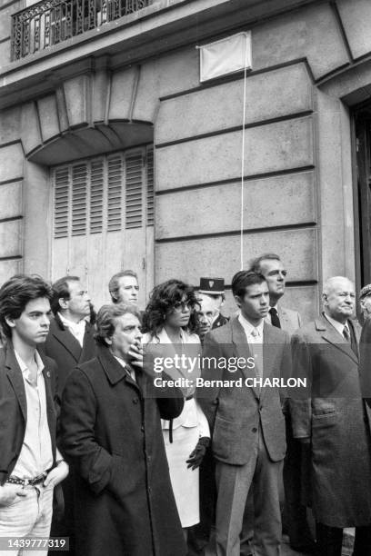
{"type": "Polygon", "coordinates": [[[290,372],[288,335],[265,322],[269,292],[262,274],[236,273],[232,291],[240,313],[206,334],[203,356],[211,364],[204,368],[203,377],[216,386],[199,392],[214,431],[216,554],[240,555],[239,534],[254,482],[254,553],[276,556],[281,540],[279,482],[286,452],[285,420],[278,389],[259,384],[290,372]],[[247,362],[252,357],[254,365],[246,364],[233,372],[219,364],[236,358],[247,362]],[[238,378],[241,387],[225,386],[238,378]],[[219,386],[218,380],[226,382],[219,386]]]}

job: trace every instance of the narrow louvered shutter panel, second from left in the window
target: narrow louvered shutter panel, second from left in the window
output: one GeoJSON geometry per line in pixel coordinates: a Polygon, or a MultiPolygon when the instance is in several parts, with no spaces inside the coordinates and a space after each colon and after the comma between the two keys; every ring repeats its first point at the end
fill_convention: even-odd
{"type": "Polygon", "coordinates": [[[72,167],[72,235],[86,233],[87,164],[72,167]]]}

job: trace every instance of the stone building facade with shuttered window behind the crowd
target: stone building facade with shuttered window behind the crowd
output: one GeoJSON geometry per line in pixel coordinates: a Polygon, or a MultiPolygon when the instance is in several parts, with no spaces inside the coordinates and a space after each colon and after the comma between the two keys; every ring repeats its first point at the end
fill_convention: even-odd
{"type": "Polygon", "coordinates": [[[97,305],[121,268],[142,305],[169,277],[230,284],[244,74],[201,83],[196,46],[246,30],[244,259],[280,253],[306,318],[326,277],[371,281],[369,0],[153,0],[52,44],[54,11],[43,47],[12,35],[43,1],[1,4],[0,282],[86,275],[97,305]]]}

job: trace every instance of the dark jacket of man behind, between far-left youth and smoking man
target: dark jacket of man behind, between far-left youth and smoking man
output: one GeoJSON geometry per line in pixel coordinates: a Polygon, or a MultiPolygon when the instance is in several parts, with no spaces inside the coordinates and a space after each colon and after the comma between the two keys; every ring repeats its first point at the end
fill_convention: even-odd
{"type": "Polygon", "coordinates": [[[68,374],[75,366],[93,359],[96,354],[94,328],[86,323],[83,347],[77,342],[58,315],[50,322],[49,333],[46,338],[44,351],[48,357],[55,360],[58,367],[58,394],[61,395],[65,388],[68,374]]]}

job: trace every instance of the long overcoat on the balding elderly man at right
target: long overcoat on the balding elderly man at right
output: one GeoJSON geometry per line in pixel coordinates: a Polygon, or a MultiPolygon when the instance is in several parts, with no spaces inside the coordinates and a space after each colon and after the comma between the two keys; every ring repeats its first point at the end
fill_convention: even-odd
{"type": "MultiPolygon", "coordinates": [[[[359,339],[359,325],[348,321],[359,339]]],[[[371,523],[370,415],[361,396],[358,356],[321,316],[292,337],[296,372],[310,388],[290,400],[295,438],[310,439],[316,521],[330,527],[371,523]]]]}

